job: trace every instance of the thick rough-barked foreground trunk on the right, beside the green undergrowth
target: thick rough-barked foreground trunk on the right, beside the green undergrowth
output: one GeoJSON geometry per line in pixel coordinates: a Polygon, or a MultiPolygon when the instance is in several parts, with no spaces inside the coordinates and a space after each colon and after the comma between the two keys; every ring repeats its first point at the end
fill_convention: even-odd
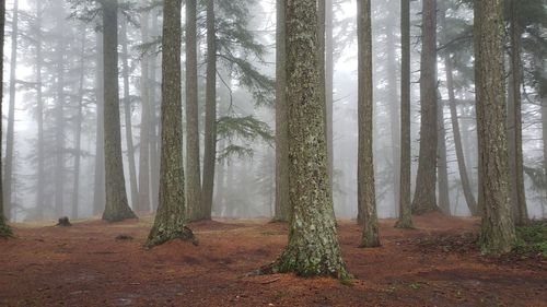
{"type": "Polygon", "coordinates": [[[475,0],[475,82],[484,208],[480,248],[509,252],[515,243],[511,216],[501,0],[475,0]]]}

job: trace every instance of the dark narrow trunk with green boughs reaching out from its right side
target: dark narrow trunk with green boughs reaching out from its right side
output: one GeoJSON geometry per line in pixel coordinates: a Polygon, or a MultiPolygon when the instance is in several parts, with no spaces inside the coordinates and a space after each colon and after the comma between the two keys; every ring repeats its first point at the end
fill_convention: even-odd
{"type": "Polygon", "coordinates": [[[211,220],[214,167],[217,165],[217,34],[214,1],[207,0],[207,93],[203,145],[203,184],[201,208],[203,219],[211,220]]]}

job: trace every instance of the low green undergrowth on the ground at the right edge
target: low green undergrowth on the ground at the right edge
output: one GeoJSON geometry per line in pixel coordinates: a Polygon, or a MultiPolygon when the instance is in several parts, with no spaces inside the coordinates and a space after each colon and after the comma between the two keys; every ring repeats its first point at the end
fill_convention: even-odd
{"type": "Polygon", "coordinates": [[[547,222],[534,222],[528,226],[516,227],[516,253],[540,252],[547,258],[547,222]]]}

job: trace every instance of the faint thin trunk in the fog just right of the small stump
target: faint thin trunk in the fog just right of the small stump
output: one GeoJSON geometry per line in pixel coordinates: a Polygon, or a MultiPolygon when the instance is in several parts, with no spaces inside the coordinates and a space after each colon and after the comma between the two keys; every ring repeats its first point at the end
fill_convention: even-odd
{"type": "Polygon", "coordinates": [[[83,120],[83,82],[85,78],[85,28],[82,27],[82,54],[80,60],[80,81],[78,88],[78,110],[74,120],[74,173],[72,186],[72,219],[79,217],[79,197],[80,197],[80,156],[81,156],[81,137],[83,120]]]}

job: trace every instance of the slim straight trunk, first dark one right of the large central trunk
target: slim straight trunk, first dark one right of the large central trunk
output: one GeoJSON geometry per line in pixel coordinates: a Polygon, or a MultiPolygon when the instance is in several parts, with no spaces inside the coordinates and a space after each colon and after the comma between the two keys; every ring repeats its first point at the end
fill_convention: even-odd
{"type": "Polygon", "coordinates": [[[362,247],[380,246],[376,193],[374,190],[374,161],[372,147],[373,85],[372,85],[372,26],[371,1],[357,2],[359,60],[359,153],[358,202],[363,220],[362,247]]]}

